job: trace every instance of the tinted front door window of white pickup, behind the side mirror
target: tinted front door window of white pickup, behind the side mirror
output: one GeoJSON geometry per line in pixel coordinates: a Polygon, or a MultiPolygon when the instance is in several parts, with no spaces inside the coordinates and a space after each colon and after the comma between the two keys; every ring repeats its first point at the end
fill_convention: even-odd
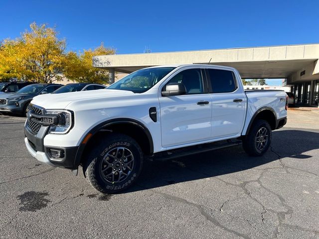
{"type": "Polygon", "coordinates": [[[204,93],[203,79],[200,69],[188,69],[181,71],[171,78],[168,83],[183,83],[186,88],[186,95],[204,93]]]}

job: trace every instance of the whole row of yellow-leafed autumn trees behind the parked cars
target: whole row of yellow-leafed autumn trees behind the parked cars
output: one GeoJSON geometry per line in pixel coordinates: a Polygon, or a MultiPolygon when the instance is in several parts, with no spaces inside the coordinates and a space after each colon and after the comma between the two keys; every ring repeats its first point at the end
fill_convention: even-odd
{"type": "Polygon", "coordinates": [[[66,40],[57,37],[55,28],[34,22],[20,37],[0,41],[0,81],[13,78],[52,83],[67,78],[106,84],[109,72],[93,67],[92,58],[110,54],[115,54],[115,50],[103,43],[95,49],[67,52],[66,40]]]}

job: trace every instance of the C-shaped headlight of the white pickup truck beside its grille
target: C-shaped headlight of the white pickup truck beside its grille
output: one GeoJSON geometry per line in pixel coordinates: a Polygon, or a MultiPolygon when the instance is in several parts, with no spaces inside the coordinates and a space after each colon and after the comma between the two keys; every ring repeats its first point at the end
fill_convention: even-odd
{"type": "Polygon", "coordinates": [[[44,115],[57,115],[59,122],[51,125],[49,133],[66,133],[72,127],[72,114],[64,110],[45,110],[44,115]]]}

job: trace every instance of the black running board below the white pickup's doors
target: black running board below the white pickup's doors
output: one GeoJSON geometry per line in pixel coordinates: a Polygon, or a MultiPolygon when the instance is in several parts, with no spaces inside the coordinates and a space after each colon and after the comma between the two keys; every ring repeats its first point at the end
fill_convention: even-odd
{"type": "Polygon", "coordinates": [[[166,160],[180,158],[180,157],[184,157],[184,156],[188,156],[192,154],[203,153],[203,152],[208,152],[208,151],[221,149],[221,148],[233,147],[233,146],[242,144],[241,140],[234,140],[234,141],[225,140],[222,142],[224,143],[206,143],[206,144],[200,144],[195,146],[189,146],[189,147],[183,147],[183,148],[168,150],[164,152],[159,152],[151,156],[147,156],[146,159],[151,161],[166,161],[166,160]]]}

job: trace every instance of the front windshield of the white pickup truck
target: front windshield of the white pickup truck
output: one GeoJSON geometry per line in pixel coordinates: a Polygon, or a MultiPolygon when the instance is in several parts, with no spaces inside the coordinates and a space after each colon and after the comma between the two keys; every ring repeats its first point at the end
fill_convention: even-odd
{"type": "Polygon", "coordinates": [[[175,67],[156,67],[142,69],[124,77],[123,79],[109,86],[107,89],[143,93],[155,86],[155,84],[157,84],[173,69],[175,69],[175,67]]]}

